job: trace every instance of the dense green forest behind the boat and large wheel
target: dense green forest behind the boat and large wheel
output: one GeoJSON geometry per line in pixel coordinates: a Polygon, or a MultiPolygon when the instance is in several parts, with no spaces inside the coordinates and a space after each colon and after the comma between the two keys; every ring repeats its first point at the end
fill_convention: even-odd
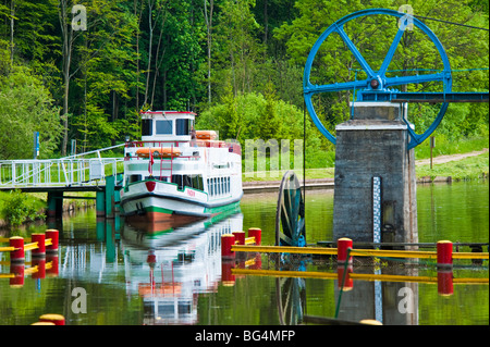
{"type": "MultiPolygon", "coordinates": [[[[453,91],[488,91],[486,0],[1,0],[0,160],[64,157],[140,134],[140,110],[189,110],[198,128],[220,138],[301,139],[310,168],[324,168],[333,146],[304,110],[303,71],[320,36],[342,16],[409,4],[440,39],[453,91]],[[85,15],[85,17],[84,17],[85,15]],[[306,120],[306,122],[305,122],[306,120]]],[[[396,33],[392,18],[366,17],[345,28],[372,65],[396,33]]],[[[404,34],[389,70],[441,69],[416,29],[404,34]]],[[[363,78],[356,59],[332,38],[319,51],[313,82],[363,78]]],[[[405,90],[439,90],[438,83],[405,90]]],[[[350,117],[353,95],[319,95],[329,131],[350,117]]],[[[438,106],[409,107],[425,129],[438,106]]],[[[446,140],[488,136],[488,103],[451,104],[437,131],[446,140]]]]}

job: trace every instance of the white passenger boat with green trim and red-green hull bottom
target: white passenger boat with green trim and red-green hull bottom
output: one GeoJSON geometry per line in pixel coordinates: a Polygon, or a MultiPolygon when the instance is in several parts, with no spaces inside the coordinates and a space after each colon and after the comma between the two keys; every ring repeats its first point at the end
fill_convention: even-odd
{"type": "Polygon", "coordinates": [[[194,131],[196,114],[142,112],[142,140],[126,142],[120,208],[133,222],[172,225],[236,208],[243,196],[238,142],[194,131]]]}

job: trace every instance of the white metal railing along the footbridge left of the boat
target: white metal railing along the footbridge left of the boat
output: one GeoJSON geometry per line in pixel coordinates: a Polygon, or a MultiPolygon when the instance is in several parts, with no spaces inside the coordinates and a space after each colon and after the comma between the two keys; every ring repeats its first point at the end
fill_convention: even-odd
{"type": "MultiPolygon", "coordinates": [[[[124,158],[1,160],[0,189],[105,185],[124,158]]],[[[122,172],[122,166],[119,170],[122,172]]]]}

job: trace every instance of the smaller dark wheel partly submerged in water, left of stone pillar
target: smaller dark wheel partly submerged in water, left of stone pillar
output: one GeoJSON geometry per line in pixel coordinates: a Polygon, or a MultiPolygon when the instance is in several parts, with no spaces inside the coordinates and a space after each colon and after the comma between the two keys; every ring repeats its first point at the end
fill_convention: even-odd
{"type": "Polygon", "coordinates": [[[284,174],[279,187],[275,246],[306,246],[305,203],[299,182],[293,171],[284,174]]]}

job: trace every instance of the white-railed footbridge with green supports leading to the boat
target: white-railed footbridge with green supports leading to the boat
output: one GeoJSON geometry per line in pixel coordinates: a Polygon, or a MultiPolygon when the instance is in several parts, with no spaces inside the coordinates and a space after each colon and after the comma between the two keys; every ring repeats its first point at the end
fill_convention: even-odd
{"type": "Polygon", "coordinates": [[[47,193],[48,216],[61,216],[64,193],[95,191],[97,216],[113,218],[119,202],[124,157],[103,158],[105,150],[124,144],[60,159],[0,160],[0,190],[47,193]]]}

